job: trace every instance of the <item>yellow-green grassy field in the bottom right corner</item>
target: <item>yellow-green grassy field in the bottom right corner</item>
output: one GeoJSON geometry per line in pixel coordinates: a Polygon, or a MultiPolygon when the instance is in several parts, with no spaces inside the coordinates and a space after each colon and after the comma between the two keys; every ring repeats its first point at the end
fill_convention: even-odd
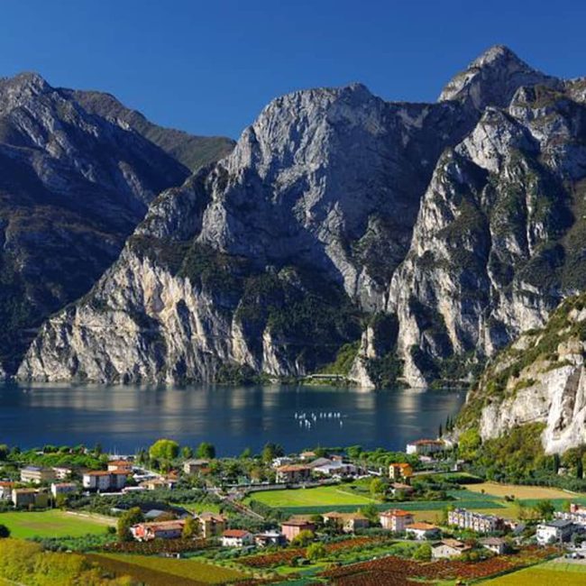
{"type": "Polygon", "coordinates": [[[483,586],[583,586],[586,564],[547,562],[482,582],[483,586]]]}

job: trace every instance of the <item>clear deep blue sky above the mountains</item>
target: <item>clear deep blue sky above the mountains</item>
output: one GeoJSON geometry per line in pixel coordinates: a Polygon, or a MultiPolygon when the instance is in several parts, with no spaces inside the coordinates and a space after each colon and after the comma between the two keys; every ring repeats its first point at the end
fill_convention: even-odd
{"type": "Polygon", "coordinates": [[[586,3],[26,0],[2,3],[0,76],[101,89],[153,122],[237,138],[275,96],[361,81],[435,100],[492,44],[586,75],[586,3]]]}

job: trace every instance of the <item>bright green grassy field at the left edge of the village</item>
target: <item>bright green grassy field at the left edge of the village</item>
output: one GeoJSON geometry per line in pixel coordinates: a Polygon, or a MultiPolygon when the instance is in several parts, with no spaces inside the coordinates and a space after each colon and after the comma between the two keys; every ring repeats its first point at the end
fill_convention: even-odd
{"type": "Polygon", "coordinates": [[[10,529],[13,537],[87,536],[105,533],[107,523],[101,518],[78,517],[61,510],[0,513],[0,525],[10,529]]]}

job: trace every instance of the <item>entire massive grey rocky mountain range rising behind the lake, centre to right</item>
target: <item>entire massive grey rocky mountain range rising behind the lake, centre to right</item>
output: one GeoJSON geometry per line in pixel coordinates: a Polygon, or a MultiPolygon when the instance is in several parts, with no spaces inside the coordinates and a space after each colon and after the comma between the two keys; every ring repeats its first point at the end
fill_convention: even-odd
{"type": "Polygon", "coordinates": [[[585,88],[498,46],[435,104],[274,100],[152,202],[19,376],[470,380],[583,287],[585,88]]]}

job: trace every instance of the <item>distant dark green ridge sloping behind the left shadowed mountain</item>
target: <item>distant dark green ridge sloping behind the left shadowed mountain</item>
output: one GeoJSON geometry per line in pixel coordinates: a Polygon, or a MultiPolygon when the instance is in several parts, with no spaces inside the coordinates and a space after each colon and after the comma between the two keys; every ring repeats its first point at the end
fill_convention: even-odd
{"type": "Polygon", "coordinates": [[[82,105],[90,114],[97,114],[114,124],[142,134],[191,171],[197,171],[222,159],[234,148],[235,142],[224,136],[194,136],[152,124],[140,112],[127,108],[114,96],[104,92],[78,89],[61,89],[60,92],[82,105]]]}

